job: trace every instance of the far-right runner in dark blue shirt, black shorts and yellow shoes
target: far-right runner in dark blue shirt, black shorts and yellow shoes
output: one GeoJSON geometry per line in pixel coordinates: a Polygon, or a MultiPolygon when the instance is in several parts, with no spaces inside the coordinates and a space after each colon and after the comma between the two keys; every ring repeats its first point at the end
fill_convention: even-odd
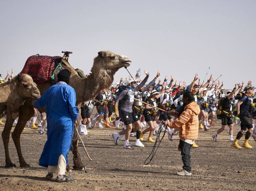
{"type": "Polygon", "coordinates": [[[237,137],[235,141],[232,143],[232,147],[235,147],[237,149],[241,149],[242,147],[251,149],[253,148],[251,145],[249,145],[248,140],[253,133],[253,125],[250,121],[251,117],[251,104],[253,103],[252,94],[256,92],[256,88],[253,89],[251,84],[248,82],[248,85],[244,87],[244,93],[242,94],[242,97],[239,99],[236,110],[237,110],[237,117],[239,116],[241,120],[241,130],[238,132],[237,137]],[[246,129],[248,131],[246,132],[246,129]],[[245,133],[246,132],[246,133],[245,133]],[[238,141],[241,139],[241,137],[245,134],[245,139],[242,147],[239,146],[238,141]]]}

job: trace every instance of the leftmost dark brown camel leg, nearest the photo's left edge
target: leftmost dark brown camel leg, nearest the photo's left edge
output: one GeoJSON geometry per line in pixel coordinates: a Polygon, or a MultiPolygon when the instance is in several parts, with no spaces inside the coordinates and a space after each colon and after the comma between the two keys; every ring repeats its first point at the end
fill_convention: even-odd
{"type": "Polygon", "coordinates": [[[4,129],[2,132],[2,139],[3,139],[3,146],[4,146],[4,151],[5,151],[5,167],[13,167],[16,165],[12,163],[9,155],[9,139],[10,139],[10,132],[13,127],[13,121],[14,119],[12,118],[12,111],[11,108],[8,106],[7,107],[7,115],[6,115],[6,122],[4,125],[4,129]]]}

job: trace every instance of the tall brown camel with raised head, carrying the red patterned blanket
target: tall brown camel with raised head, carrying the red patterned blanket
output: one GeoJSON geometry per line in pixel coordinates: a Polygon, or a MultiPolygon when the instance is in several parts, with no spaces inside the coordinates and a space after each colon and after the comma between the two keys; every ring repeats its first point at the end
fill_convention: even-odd
{"type": "MultiPolygon", "coordinates": [[[[118,71],[119,68],[128,67],[132,62],[127,56],[118,55],[111,51],[100,51],[98,52],[98,56],[94,58],[93,66],[91,68],[91,73],[87,76],[86,79],[81,79],[76,75],[76,72],[73,68],[64,66],[65,69],[71,71],[70,77],[70,85],[76,91],[76,102],[78,108],[81,107],[81,103],[83,101],[94,99],[95,96],[102,91],[103,89],[109,88],[111,83],[114,80],[114,74],[118,71]]],[[[39,91],[41,94],[52,86],[53,83],[45,82],[37,84],[39,91]]],[[[23,158],[21,148],[20,148],[20,135],[24,126],[26,125],[27,120],[31,118],[34,114],[33,107],[31,105],[31,100],[26,100],[24,105],[19,107],[19,119],[18,123],[14,129],[15,133],[12,133],[12,138],[14,144],[16,146],[20,167],[26,168],[29,167],[23,158]]],[[[45,108],[40,109],[45,112],[45,108]]],[[[4,127],[4,131],[2,133],[3,144],[5,149],[5,167],[13,167],[16,166],[11,162],[9,151],[8,151],[8,143],[9,143],[9,134],[13,125],[14,119],[11,116],[11,110],[7,109],[7,118],[6,124],[4,127]]],[[[13,131],[13,132],[14,132],[13,131]]],[[[81,162],[81,158],[78,150],[78,142],[79,140],[76,137],[76,133],[74,132],[73,142],[72,142],[72,153],[74,169],[83,170],[85,169],[84,164],[81,162]]]]}

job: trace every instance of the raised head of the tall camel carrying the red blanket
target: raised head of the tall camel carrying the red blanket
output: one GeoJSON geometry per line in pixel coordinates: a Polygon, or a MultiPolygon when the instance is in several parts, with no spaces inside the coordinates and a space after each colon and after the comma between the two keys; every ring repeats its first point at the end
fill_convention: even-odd
{"type": "Polygon", "coordinates": [[[130,66],[129,62],[132,62],[130,58],[124,55],[115,54],[111,51],[100,51],[95,61],[101,63],[105,70],[118,70],[122,67],[130,66]]]}

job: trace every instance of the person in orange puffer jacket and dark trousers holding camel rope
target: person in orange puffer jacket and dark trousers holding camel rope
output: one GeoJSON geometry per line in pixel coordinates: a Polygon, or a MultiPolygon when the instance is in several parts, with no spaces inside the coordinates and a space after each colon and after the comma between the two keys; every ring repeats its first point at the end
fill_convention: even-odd
{"type": "Polygon", "coordinates": [[[198,115],[200,113],[200,108],[193,98],[194,95],[192,92],[184,92],[182,98],[183,105],[180,112],[175,112],[178,119],[167,123],[170,128],[179,129],[179,150],[181,151],[181,159],[184,165],[182,167],[183,169],[177,172],[178,175],[191,175],[190,150],[192,144],[198,137],[198,115]]]}

